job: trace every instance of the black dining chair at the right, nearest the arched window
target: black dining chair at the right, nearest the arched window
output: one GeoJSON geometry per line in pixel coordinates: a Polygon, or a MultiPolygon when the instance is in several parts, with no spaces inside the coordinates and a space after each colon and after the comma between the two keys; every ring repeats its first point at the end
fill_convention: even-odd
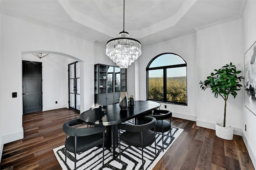
{"type": "MultiPolygon", "coordinates": [[[[171,127],[171,117],[172,112],[168,110],[154,110],[151,117],[156,118],[156,132],[162,133],[162,147],[164,152],[164,132],[170,131],[170,139],[172,143],[172,127],[171,127]],[[170,122],[166,121],[166,119],[170,119],[170,122]]],[[[152,129],[153,130],[153,129],[152,129]]]]}

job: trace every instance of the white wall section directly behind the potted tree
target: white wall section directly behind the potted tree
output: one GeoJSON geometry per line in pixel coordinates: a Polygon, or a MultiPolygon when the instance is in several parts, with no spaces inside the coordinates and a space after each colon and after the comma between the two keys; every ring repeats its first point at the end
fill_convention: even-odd
{"type": "MultiPolygon", "coordinates": [[[[197,37],[197,121],[201,127],[215,129],[217,118],[224,119],[224,100],[214,98],[210,89],[200,90],[200,80],[206,80],[214,69],[232,62],[237,70],[244,70],[242,52],[242,19],[219,23],[200,29],[197,37]]],[[[241,74],[242,76],[242,74],[241,74]]],[[[244,84],[244,81],[241,82],[244,84]]],[[[242,108],[244,89],[234,99],[231,95],[226,106],[226,124],[234,127],[234,134],[242,135],[242,108]]]]}

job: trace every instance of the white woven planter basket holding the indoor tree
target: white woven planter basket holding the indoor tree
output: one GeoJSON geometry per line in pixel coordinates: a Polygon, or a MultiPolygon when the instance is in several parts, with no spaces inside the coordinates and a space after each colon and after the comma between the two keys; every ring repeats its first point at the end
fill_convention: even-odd
{"type": "Polygon", "coordinates": [[[226,140],[233,140],[233,126],[232,125],[226,125],[226,127],[223,127],[223,123],[220,119],[217,119],[217,123],[215,123],[215,131],[216,136],[222,139],[226,140]]]}

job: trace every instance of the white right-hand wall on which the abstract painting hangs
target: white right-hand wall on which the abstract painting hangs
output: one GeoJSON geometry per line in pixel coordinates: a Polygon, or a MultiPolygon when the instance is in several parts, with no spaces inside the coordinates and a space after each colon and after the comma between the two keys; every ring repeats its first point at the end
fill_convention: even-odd
{"type": "MultiPolygon", "coordinates": [[[[242,18],[244,32],[243,53],[256,41],[256,1],[247,1],[242,18]]],[[[256,114],[256,113],[255,113],[256,114]]],[[[242,137],[248,149],[254,167],[256,167],[256,115],[250,112],[243,102],[242,137]],[[246,125],[246,131],[245,131],[246,125]]]]}

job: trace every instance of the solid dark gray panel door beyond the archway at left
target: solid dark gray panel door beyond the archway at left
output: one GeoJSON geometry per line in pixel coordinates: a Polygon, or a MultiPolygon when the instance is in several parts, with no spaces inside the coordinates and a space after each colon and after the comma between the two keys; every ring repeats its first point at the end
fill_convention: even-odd
{"type": "Polygon", "coordinates": [[[42,63],[22,61],[23,114],[42,111],[42,63]]]}

